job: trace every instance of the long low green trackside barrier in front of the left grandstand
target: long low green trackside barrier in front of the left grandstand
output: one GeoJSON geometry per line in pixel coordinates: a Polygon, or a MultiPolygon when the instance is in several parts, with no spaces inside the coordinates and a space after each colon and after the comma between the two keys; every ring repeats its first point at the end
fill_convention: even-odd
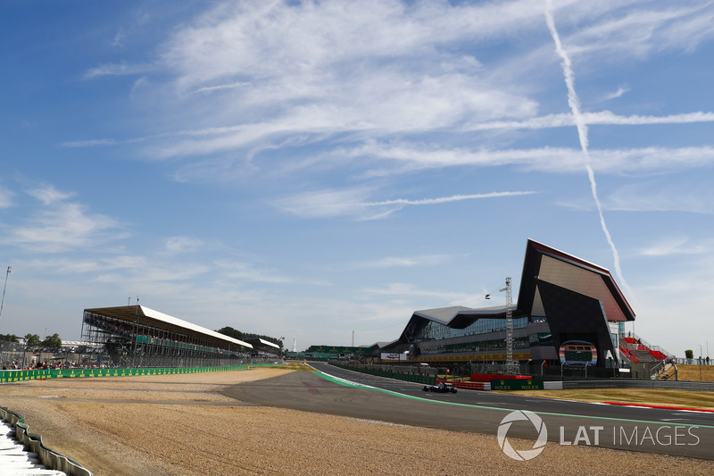
{"type": "Polygon", "coordinates": [[[244,363],[225,367],[142,368],[142,369],[58,369],[37,371],[0,371],[0,383],[24,380],[72,379],[91,377],[129,377],[133,375],[165,375],[170,373],[201,373],[242,371],[251,367],[276,365],[276,363],[244,363]]]}

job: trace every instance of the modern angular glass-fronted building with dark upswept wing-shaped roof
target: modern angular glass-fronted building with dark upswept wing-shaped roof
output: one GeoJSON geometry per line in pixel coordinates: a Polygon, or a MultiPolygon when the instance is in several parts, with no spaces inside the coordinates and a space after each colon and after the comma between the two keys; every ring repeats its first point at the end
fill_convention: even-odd
{"type": "Polygon", "coordinates": [[[511,356],[511,363],[531,368],[617,369],[628,359],[620,339],[632,321],[635,313],[610,271],[529,239],[511,306],[416,311],[398,339],[375,351],[444,365],[506,363],[511,356]]]}

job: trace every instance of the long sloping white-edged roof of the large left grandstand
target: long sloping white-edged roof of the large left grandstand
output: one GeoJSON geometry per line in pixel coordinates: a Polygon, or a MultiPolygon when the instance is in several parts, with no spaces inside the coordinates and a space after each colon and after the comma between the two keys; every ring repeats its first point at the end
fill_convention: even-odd
{"type": "Polygon", "coordinates": [[[118,321],[129,323],[140,322],[143,325],[151,326],[160,330],[170,332],[183,332],[188,335],[197,335],[201,338],[222,341],[223,343],[237,344],[238,346],[253,348],[253,346],[243,340],[230,338],[215,330],[206,329],[191,322],[183,321],[169,314],[160,313],[150,309],[145,305],[122,305],[119,307],[97,307],[85,309],[85,313],[93,313],[105,317],[110,317],[118,321]]]}

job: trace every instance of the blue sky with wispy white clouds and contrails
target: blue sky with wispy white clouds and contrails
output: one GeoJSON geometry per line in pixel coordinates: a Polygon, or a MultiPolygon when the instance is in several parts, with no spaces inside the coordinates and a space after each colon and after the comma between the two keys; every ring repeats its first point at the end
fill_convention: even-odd
{"type": "Polygon", "coordinates": [[[710,1],[6,0],[0,333],[79,340],[138,300],[371,345],[518,296],[532,238],[609,269],[627,330],[714,355],[712,25],[710,1]]]}

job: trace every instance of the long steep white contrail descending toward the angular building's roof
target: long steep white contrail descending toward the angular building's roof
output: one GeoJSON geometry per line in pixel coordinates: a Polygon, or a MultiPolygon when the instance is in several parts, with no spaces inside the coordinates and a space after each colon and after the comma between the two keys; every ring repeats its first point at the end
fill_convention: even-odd
{"type": "Polygon", "coordinates": [[[593,198],[595,200],[595,205],[597,205],[597,212],[600,214],[600,224],[602,226],[602,231],[605,233],[605,237],[610,243],[610,248],[612,249],[612,256],[615,260],[615,272],[618,275],[618,280],[622,283],[623,287],[627,289],[627,293],[634,297],[632,289],[627,286],[625,278],[622,276],[622,270],[619,266],[619,253],[618,248],[615,247],[615,243],[612,241],[610,236],[610,230],[608,230],[607,223],[605,223],[605,217],[602,215],[602,205],[600,204],[600,198],[597,196],[597,183],[595,182],[595,174],[593,167],[590,166],[590,154],[588,153],[588,141],[587,141],[587,124],[585,123],[585,117],[583,113],[580,112],[580,100],[577,97],[575,91],[575,76],[573,75],[572,63],[570,63],[570,58],[568,53],[563,48],[560,43],[560,35],[558,30],[555,29],[555,21],[552,19],[552,0],[546,0],[545,2],[545,21],[548,23],[548,29],[551,30],[551,36],[555,42],[555,50],[560,55],[563,67],[563,76],[565,76],[565,85],[568,87],[568,104],[570,110],[573,113],[573,119],[577,126],[577,137],[580,139],[580,148],[585,154],[585,167],[587,168],[587,177],[590,179],[590,189],[593,192],[593,198]]]}

